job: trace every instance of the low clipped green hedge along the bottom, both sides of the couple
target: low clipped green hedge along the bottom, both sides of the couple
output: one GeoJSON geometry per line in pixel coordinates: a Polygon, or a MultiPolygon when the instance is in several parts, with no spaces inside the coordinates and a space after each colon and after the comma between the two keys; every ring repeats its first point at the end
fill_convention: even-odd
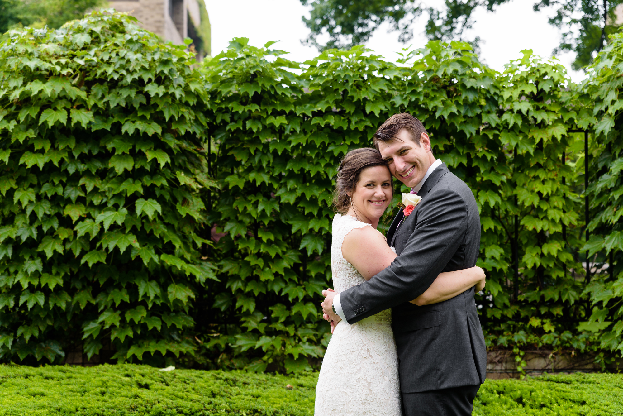
{"type": "MultiPolygon", "coordinates": [[[[318,373],[0,366],[5,415],[313,415],[318,373]],[[287,389],[287,385],[292,389],[287,389]]],[[[623,376],[487,381],[474,415],[623,415],[623,376]]]]}

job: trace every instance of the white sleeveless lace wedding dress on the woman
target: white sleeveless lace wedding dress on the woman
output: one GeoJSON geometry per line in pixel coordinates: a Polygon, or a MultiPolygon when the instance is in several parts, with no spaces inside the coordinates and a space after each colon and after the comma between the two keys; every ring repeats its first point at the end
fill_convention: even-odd
{"type": "MultiPolygon", "coordinates": [[[[342,256],[346,234],[362,227],[371,225],[348,215],[333,219],[331,273],[337,293],[364,281],[342,256]]],[[[335,327],[316,385],[315,416],[325,415],[401,415],[391,310],[353,325],[340,321],[335,327]]]]}

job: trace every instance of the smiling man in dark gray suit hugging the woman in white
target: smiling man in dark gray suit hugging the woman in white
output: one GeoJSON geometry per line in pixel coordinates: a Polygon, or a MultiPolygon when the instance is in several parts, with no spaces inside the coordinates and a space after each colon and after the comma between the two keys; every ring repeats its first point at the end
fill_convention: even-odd
{"type": "Polygon", "coordinates": [[[409,301],[439,273],[476,264],[478,206],[465,182],[434,158],[426,129],[414,116],[391,116],[374,134],[374,146],[392,175],[422,201],[408,216],[401,210],[389,227],[394,262],[339,295],[323,291],[323,311],[335,323],[354,324],[392,308],[403,414],[470,415],[487,362],[474,288],[434,305],[409,301]]]}

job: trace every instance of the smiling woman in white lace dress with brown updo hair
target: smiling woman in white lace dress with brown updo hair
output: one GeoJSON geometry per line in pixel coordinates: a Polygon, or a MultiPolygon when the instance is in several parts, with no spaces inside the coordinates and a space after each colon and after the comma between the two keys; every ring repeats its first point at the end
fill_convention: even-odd
{"type": "MultiPolygon", "coordinates": [[[[396,258],[393,247],[376,230],[391,204],[392,181],[386,162],[376,149],[354,149],[338,169],[333,198],[340,212],[333,219],[331,273],[335,291],[359,285],[396,258]],[[374,257],[359,255],[359,247],[373,247],[374,257]]],[[[430,305],[485,286],[480,267],[441,273],[428,290],[411,303],[430,305]]],[[[333,328],[316,385],[315,416],[400,416],[398,358],[391,328],[391,310],[356,324],[340,321],[333,328]]]]}

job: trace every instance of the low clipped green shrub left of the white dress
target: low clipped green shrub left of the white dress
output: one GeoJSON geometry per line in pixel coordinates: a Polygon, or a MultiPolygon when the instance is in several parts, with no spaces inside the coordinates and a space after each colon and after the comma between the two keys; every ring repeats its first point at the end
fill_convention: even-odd
{"type": "Polygon", "coordinates": [[[0,366],[0,416],[313,415],[317,374],[158,371],[97,367],[0,366]],[[293,386],[292,390],[287,385],[293,386]]]}

